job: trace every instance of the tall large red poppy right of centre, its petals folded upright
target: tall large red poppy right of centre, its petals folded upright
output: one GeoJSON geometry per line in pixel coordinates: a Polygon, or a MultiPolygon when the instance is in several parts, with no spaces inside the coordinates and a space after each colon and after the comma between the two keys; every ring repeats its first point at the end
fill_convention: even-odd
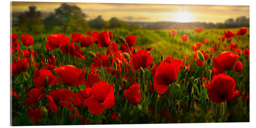
{"type": "Polygon", "coordinates": [[[178,76],[180,65],[178,62],[161,62],[157,67],[154,77],[155,90],[163,94],[178,76]]]}

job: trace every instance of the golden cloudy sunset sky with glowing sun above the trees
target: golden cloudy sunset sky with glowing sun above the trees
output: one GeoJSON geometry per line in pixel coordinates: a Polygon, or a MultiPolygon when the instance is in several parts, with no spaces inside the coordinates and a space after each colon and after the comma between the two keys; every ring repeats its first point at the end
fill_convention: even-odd
{"type": "MultiPolygon", "coordinates": [[[[164,4],[98,4],[68,3],[76,5],[93,19],[102,15],[104,20],[117,17],[131,22],[224,22],[227,18],[249,17],[249,6],[223,5],[164,5],[164,4]]],[[[38,11],[54,12],[61,3],[12,2],[13,12],[24,12],[34,5],[38,11]]]]}

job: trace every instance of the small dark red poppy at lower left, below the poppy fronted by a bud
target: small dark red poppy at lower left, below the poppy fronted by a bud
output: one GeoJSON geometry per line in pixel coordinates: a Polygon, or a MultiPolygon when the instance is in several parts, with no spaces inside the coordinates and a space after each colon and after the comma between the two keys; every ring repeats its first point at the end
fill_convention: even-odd
{"type": "Polygon", "coordinates": [[[29,98],[25,99],[25,102],[28,106],[34,106],[44,95],[45,93],[42,93],[41,89],[31,89],[29,91],[29,98]]]}

